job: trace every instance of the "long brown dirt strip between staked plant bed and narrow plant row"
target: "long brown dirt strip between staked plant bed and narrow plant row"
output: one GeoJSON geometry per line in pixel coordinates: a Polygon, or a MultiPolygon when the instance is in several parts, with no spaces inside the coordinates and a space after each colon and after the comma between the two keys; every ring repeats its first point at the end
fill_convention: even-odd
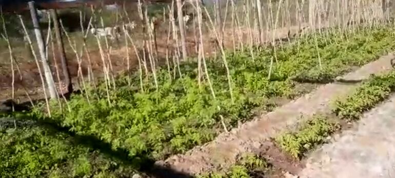
{"type": "Polygon", "coordinates": [[[352,91],[370,74],[388,72],[391,69],[392,58],[395,58],[392,54],[383,56],[357,71],[344,75],[342,80],[348,81],[346,83],[335,82],[324,85],[273,112],[243,124],[240,128],[220,134],[214,141],[204,146],[195,147],[183,155],[174,155],[156,164],[189,174],[227,168],[243,152],[260,152],[262,143],[284,129],[297,125],[302,116],[329,113],[331,101],[336,97],[352,91]]]}

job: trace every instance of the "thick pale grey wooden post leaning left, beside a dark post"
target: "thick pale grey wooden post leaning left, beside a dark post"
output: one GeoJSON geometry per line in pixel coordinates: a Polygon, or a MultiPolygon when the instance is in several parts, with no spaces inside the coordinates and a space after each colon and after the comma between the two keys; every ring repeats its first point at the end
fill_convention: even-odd
{"type": "Polygon", "coordinates": [[[36,9],[34,8],[34,2],[31,1],[28,3],[28,5],[29,5],[29,9],[30,9],[30,14],[32,17],[34,33],[35,33],[36,40],[37,40],[37,46],[39,49],[41,62],[43,63],[44,75],[45,75],[45,80],[48,85],[49,95],[50,95],[51,99],[54,99],[54,98],[57,98],[56,89],[55,89],[55,85],[53,82],[51,68],[48,65],[48,59],[47,59],[46,52],[45,52],[46,49],[45,49],[44,42],[43,42],[43,36],[41,34],[41,29],[38,24],[37,12],[36,12],[36,9]]]}

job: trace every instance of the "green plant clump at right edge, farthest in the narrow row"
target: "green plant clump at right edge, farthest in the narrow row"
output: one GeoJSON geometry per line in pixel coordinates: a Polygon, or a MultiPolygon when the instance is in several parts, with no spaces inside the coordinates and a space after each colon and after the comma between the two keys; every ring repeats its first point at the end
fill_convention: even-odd
{"type": "Polygon", "coordinates": [[[348,121],[358,120],[365,111],[388,98],[394,90],[395,72],[373,76],[345,100],[335,101],[333,112],[348,121]]]}

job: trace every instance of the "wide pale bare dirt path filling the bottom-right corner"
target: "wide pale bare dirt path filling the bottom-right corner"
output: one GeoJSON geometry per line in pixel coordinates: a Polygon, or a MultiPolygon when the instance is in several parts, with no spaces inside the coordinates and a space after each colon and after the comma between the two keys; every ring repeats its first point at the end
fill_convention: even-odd
{"type": "Polygon", "coordinates": [[[395,95],[314,151],[300,177],[395,177],[395,95]]]}

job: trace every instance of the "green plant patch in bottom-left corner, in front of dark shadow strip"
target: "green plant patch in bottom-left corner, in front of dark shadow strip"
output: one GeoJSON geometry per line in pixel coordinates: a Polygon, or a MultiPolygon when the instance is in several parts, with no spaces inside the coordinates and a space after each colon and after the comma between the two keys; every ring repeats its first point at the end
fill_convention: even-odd
{"type": "Polygon", "coordinates": [[[67,133],[42,126],[0,128],[0,177],[131,177],[98,150],[67,133]]]}

